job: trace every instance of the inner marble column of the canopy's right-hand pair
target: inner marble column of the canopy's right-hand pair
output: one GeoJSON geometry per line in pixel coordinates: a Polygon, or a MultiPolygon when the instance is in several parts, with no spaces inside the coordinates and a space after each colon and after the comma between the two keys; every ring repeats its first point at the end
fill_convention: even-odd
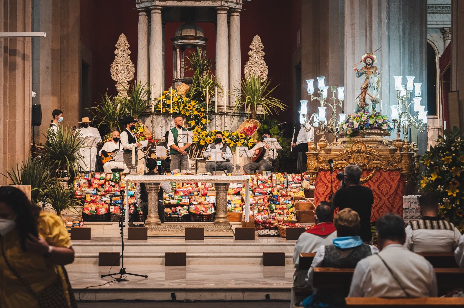
{"type": "Polygon", "coordinates": [[[227,30],[227,7],[219,6],[216,21],[216,78],[223,91],[218,88],[218,111],[223,111],[224,90],[229,88],[229,47],[227,30]],[[221,106],[221,108],[219,108],[221,106]]]}

